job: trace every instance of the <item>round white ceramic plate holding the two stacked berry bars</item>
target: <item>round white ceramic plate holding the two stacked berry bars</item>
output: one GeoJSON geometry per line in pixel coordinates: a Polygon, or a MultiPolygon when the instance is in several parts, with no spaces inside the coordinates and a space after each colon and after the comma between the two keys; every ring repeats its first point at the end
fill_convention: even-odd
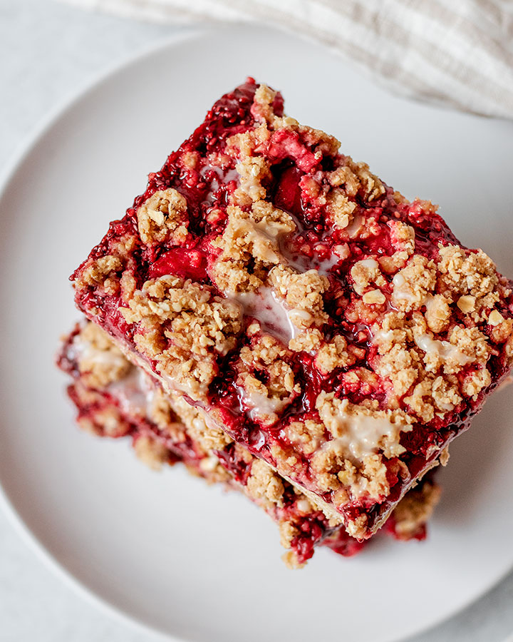
{"type": "Polygon", "coordinates": [[[411,197],[442,204],[467,245],[513,274],[511,124],[403,101],[314,44],[260,28],[199,34],[118,69],[33,141],[0,208],[0,478],[6,506],[77,584],[195,642],[393,641],[450,616],[513,564],[511,393],[452,450],[423,544],[382,541],[288,571],[271,521],[180,467],[73,425],[53,367],[77,313],[68,275],[145,188],[145,175],[248,74],[299,121],[336,134],[411,197]],[[13,511],[13,512],[14,512],[13,511]]]}

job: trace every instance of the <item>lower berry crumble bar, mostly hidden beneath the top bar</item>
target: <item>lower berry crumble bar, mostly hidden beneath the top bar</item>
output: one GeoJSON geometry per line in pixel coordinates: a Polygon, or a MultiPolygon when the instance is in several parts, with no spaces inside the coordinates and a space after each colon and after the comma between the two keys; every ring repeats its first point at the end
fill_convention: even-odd
{"type": "MultiPolygon", "coordinates": [[[[284,555],[289,566],[304,565],[316,546],[344,556],[363,548],[364,542],[341,526],[331,526],[322,511],[269,464],[209,427],[201,411],[180,397],[165,395],[97,326],[76,325],[63,339],[58,365],[73,377],[68,395],[83,429],[104,437],[130,436],[135,453],[152,469],[183,462],[209,483],[242,490],[278,524],[281,543],[289,549],[284,555]]],[[[424,479],[398,504],[385,531],[395,539],[424,539],[439,495],[440,487],[424,479]]]]}

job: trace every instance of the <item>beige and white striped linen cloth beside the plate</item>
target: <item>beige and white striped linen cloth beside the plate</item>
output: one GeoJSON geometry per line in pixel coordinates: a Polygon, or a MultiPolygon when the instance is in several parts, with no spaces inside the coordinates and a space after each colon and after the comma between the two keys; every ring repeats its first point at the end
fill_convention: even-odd
{"type": "Polygon", "coordinates": [[[259,21],[411,98],[513,118],[512,0],[61,0],[154,21],[259,21]]]}

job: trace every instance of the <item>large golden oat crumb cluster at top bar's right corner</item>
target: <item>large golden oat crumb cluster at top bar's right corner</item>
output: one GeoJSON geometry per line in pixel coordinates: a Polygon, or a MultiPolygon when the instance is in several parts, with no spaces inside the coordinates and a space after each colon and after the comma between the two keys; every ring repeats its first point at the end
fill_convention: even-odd
{"type": "Polygon", "coordinates": [[[476,399],[492,380],[487,362],[493,343],[511,336],[513,323],[490,309],[507,295],[481,250],[440,246],[437,261],[413,255],[393,277],[391,303],[397,311],[373,325],[373,366],[390,382],[390,407],[403,402],[429,422],[452,412],[463,397],[476,399]],[[495,336],[482,331],[483,324],[491,325],[489,317],[502,326],[495,336]]]}

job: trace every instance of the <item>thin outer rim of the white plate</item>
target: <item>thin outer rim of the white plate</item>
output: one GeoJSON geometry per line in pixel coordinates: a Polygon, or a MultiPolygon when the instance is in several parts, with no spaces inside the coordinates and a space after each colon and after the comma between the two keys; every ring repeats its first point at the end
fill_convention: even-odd
{"type": "MultiPolygon", "coordinates": [[[[237,29],[240,28],[241,24],[238,23],[229,23],[227,21],[219,21],[216,24],[212,25],[185,25],[182,26],[180,31],[177,31],[175,34],[170,34],[168,36],[159,39],[157,43],[150,44],[145,46],[140,51],[124,56],[120,61],[112,63],[110,66],[107,66],[103,71],[95,73],[92,78],[88,78],[87,81],[81,83],[78,88],[71,90],[66,93],[63,98],[60,98],[56,104],[50,108],[46,113],[38,118],[35,124],[29,128],[27,133],[21,137],[21,141],[16,145],[14,151],[9,155],[6,163],[4,163],[3,168],[0,171],[0,206],[6,195],[6,191],[11,185],[11,181],[14,179],[17,170],[19,167],[29,158],[30,154],[36,149],[38,143],[41,142],[41,138],[48,133],[48,131],[55,126],[58,121],[63,118],[63,116],[71,111],[75,106],[78,105],[84,98],[88,96],[89,93],[96,91],[104,83],[115,76],[116,74],[123,71],[125,68],[133,66],[135,63],[145,61],[146,58],[151,58],[152,56],[158,55],[166,49],[172,49],[172,47],[185,43],[187,41],[192,41],[195,39],[201,39],[207,34],[211,34],[215,31],[227,30],[227,29],[237,29]]],[[[267,26],[266,24],[244,24],[244,29],[257,29],[265,31],[275,31],[280,32],[281,29],[275,29],[273,27],[267,26]]],[[[298,39],[304,39],[301,34],[290,34],[291,36],[296,36],[298,39]]],[[[321,49],[324,49],[326,53],[336,56],[333,53],[333,50],[328,46],[323,46],[321,43],[316,43],[321,49]]],[[[338,56],[343,59],[342,56],[338,56]]],[[[358,68],[355,68],[356,73],[358,73],[358,68]]],[[[403,98],[405,101],[410,101],[409,98],[403,98]]],[[[424,103],[425,106],[444,113],[447,111],[447,107],[438,106],[432,103],[424,103]]],[[[472,114],[465,114],[465,112],[457,112],[458,115],[462,116],[472,116],[472,114]]],[[[494,119],[499,120],[499,119],[494,119]]],[[[1,215],[1,211],[0,211],[1,215]]],[[[2,325],[2,320],[0,317],[0,326],[2,325]]],[[[90,588],[85,581],[82,581],[78,578],[72,571],[68,570],[66,565],[61,562],[54,554],[49,551],[43,542],[38,538],[36,533],[28,526],[24,518],[21,516],[19,511],[16,510],[14,502],[11,501],[11,498],[7,494],[4,484],[2,483],[0,476],[0,509],[3,510],[4,514],[7,516],[8,521],[14,527],[14,530],[19,533],[21,539],[26,543],[28,549],[32,550],[38,559],[41,560],[44,566],[49,569],[54,576],[58,577],[63,581],[65,586],[71,588],[74,593],[78,596],[81,596],[87,603],[95,606],[100,610],[100,612],[105,615],[113,617],[115,621],[125,624],[125,626],[131,627],[133,631],[138,631],[143,634],[151,633],[155,636],[155,639],[160,639],[162,642],[186,642],[185,638],[178,638],[177,636],[169,633],[168,631],[162,630],[158,625],[152,624],[149,621],[145,621],[138,616],[131,614],[129,611],[125,611],[122,607],[116,606],[115,603],[111,602],[108,598],[101,596],[93,588],[90,588]]],[[[435,618],[434,621],[430,622],[428,625],[423,626],[418,629],[413,634],[408,634],[405,637],[395,638],[394,642],[406,642],[410,639],[417,636],[423,635],[427,631],[431,631],[437,626],[442,625],[450,621],[452,618],[460,615],[465,609],[470,608],[472,604],[477,603],[482,599],[489,591],[492,590],[495,586],[504,581],[504,579],[511,574],[513,571],[513,565],[508,565],[504,571],[499,574],[492,581],[485,583],[481,590],[475,595],[472,601],[463,604],[462,606],[456,608],[449,614],[435,618]]]]}

